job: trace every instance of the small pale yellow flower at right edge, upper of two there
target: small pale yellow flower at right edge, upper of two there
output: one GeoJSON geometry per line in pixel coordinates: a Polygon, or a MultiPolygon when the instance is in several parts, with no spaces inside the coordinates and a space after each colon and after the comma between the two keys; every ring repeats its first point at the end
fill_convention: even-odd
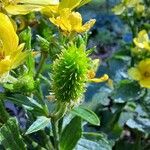
{"type": "Polygon", "coordinates": [[[138,36],[134,38],[133,41],[138,48],[150,51],[150,39],[146,30],[140,31],[138,36]]]}

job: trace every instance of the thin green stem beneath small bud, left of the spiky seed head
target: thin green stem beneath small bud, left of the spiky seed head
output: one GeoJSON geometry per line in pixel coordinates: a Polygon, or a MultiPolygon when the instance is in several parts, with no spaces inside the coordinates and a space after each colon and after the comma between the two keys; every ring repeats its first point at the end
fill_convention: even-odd
{"type": "Polygon", "coordinates": [[[42,52],[42,56],[41,56],[41,60],[40,60],[40,63],[39,63],[39,67],[38,67],[38,70],[36,72],[36,75],[35,75],[35,79],[37,79],[43,69],[43,65],[47,59],[47,52],[42,52]]]}

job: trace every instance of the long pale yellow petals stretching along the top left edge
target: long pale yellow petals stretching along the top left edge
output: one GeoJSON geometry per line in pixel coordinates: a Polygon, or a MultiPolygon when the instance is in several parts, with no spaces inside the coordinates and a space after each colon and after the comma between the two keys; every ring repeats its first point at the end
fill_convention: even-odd
{"type": "Polygon", "coordinates": [[[25,15],[40,11],[47,5],[57,5],[59,0],[0,0],[0,10],[11,15],[25,15]]]}

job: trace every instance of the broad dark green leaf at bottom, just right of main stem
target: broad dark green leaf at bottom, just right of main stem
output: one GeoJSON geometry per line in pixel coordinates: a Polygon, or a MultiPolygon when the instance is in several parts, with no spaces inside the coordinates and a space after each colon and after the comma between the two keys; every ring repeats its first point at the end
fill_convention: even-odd
{"type": "Polygon", "coordinates": [[[60,150],[72,150],[82,135],[81,119],[74,117],[65,127],[60,138],[60,150]]]}

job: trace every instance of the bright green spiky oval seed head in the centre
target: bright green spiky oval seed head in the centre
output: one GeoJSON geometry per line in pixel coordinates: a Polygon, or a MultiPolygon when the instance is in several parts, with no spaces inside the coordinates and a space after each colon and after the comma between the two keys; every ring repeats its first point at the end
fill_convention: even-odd
{"type": "Polygon", "coordinates": [[[52,88],[60,102],[78,102],[85,90],[89,58],[75,45],[62,51],[53,64],[52,88]]]}

